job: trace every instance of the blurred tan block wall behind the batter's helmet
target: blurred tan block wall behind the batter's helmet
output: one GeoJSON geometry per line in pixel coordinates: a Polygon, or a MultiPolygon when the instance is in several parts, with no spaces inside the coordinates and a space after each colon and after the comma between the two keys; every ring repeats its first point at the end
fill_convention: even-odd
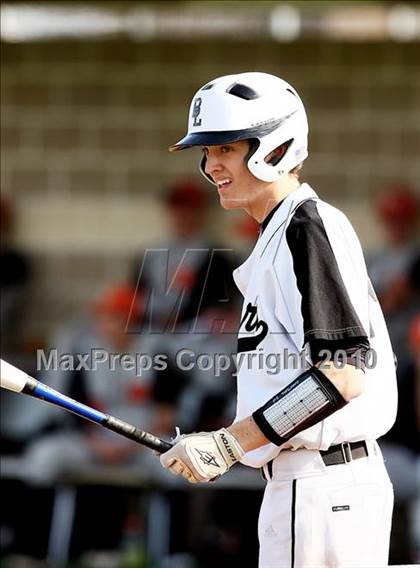
{"type": "MultiPolygon", "coordinates": [[[[146,6],[159,12],[159,4],[146,6]]],[[[200,19],[200,4],[210,22],[239,10],[235,2],[165,10],[182,25],[185,12],[200,19]]],[[[248,10],[262,22],[277,5],[240,4],[243,20],[248,10]]],[[[310,4],[320,17],[336,3],[310,4]]],[[[365,3],[354,10],[360,20],[369,12],[365,3]]],[[[345,209],[367,248],[380,243],[372,198],[386,184],[419,179],[419,44],[418,36],[359,38],[357,19],[354,28],[354,41],[321,32],[276,41],[267,26],[265,34],[251,27],[247,37],[227,30],[191,39],[187,27],[173,40],[3,42],[1,187],[14,204],[14,239],[34,259],[27,335],[48,332],[126,273],[133,253],[167,236],[158,195],[174,178],[196,173],[190,153],[174,157],[167,147],[186,127],[192,94],[221,74],[266,71],[303,94],[311,124],[305,178],[345,209]]],[[[233,216],[222,216],[215,194],[212,206],[213,231],[235,244],[233,216]]]]}

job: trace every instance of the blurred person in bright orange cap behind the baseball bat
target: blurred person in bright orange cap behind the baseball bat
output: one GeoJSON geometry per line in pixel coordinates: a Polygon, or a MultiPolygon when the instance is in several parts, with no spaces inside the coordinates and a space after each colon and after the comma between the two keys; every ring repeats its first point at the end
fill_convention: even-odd
{"type": "MultiPolygon", "coordinates": [[[[104,358],[112,353],[133,357],[147,354],[144,337],[127,333],[126,329],[128,321],[137,324],[141,319],[141,305],[129,285],[105,292],[90,307],[84,329],[71,322],[52,338],[51,348],[57,350],[58,361],[64,354],[77,358],[91,349],[103,351],[104,358]]],[[[48,356],[47,350],[45,358],[48,356]]],[[[90,362],[88,368],[81,369],[58,365],[57,369],[42,370],[39,379],[98,410],[150,429],[154,419],[154,370],[143,370],[139,376],[121,361],[116,359],[113,365],[109,360],[96,365],[90,362]]],[[[124,464],[141,459],[141,446],[52,406],[43,405],[42,411],[38,437],[31,437],[31,444],[17,463],[19,475],[31,483],[54,484],[80,464],[124,464]]]]}

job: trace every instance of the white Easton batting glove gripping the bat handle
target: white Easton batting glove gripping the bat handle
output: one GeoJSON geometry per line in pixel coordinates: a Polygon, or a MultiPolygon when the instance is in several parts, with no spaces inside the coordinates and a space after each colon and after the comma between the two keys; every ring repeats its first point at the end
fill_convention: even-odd
{"type": "Polygon", "coordinates": [[[160,456],[160,463],[190,483],[207,483],[220,477],[245,453],[226,428],[177,436],[174,441],[174,447],[160,456]]]}

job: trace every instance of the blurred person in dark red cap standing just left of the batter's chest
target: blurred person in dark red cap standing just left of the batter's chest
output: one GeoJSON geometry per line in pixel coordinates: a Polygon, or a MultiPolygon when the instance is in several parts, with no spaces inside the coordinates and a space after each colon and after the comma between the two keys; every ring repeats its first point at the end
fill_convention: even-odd
{"type": "Polygon", "coordinates": [[[209,408],[217,408],[215,420],[229,412],[232,364],[216,377],[214,368],[200,370],[196,359],[232,353],[239,316],[233,251],[217,248],[207,234],[208,193],[195,181],[180,181],[168,187],[163,199],[172,237],[148,248],[136,273],[145,291],[142,328],[168,357],[167,369],[156,376],[158,431],[198,425],[211,415],[209,408]],[[192,366],[186,373],[177,361],[185,334],[192,351],[184,359],[192,366]]]}

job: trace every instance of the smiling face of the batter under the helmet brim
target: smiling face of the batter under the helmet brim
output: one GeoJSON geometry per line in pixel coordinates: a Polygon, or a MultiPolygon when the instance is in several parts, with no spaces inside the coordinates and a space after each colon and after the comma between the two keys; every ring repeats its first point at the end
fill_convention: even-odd
{"type": "Polygon", "coordinates": [[[204,146],[206,173],[217,184],[220,204],[225,209],[245,209],[252,214],[253,204],[261,197],[266,185],[248,170],[245,156],[246,140],[221,146],[204,146]]]}

